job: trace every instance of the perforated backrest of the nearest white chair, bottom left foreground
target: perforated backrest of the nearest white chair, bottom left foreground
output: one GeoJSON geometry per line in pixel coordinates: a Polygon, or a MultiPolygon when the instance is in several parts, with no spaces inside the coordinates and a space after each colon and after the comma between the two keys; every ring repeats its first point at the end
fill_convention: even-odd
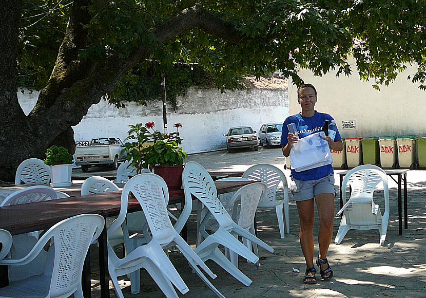
{"type": "MultiPolygon", "coordinates": [[[[76,288],[81,287],[87,251],[92,241],[101,234],[104,221],[98,214],[73,216],[51,227],[38,240],[30,253],[40,252],[53,238],[54,262],[49,296],[71,294],[76,288]]],[[[45,271],[45,275],[49,273],[45,271]]]]}

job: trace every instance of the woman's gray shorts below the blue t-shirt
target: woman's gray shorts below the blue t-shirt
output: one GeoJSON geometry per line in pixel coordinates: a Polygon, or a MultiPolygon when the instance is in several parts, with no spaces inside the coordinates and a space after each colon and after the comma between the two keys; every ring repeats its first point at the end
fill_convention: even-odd
{"type": "Polygon", "coordinates": [[[294,178],[292,180],[294,183],[290,189],[293,194],[293,200],[295,201],[313,199],[316,195],[326,193],[336,196],[333,174],[328,174],[324,178],[317,180],[297,180],[294,178]]]}

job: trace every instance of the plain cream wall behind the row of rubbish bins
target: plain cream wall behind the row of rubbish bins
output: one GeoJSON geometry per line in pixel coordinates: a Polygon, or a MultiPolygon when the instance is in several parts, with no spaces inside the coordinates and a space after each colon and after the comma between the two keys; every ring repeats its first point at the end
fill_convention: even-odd
{"type": "MultiPolygon", "coordinates": [[[[374,81],[359,79],[355,69],[353,76],[340,76],[327,73],[314,77],[312,71],[298,72],[305,83],[312,83],[318,92],[315,108],[336,119],[337,127],[344,138],[384,137],[384,136],[426,136],[426,91],[413,85],[408,76],[413,76],[416,68],[408,68],[400,73],[389,86],[373,89],[374,81]],[[356,129],[342,130],[342,121],[355,120],[356,129]]],[[[288,82],[290,114],[299,113],[297,87],[288,82]]]]}

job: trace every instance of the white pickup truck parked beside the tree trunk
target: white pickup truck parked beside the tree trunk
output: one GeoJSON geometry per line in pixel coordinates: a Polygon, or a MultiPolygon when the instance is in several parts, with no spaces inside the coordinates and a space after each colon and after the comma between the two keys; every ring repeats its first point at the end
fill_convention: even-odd
{"type": "Polygon", "coordinates": [[[117,170],[118,163],[126,159],[127,153],[121,154],[124,145],[119,138],[98,138],[75,142],[75,164],[81,165],[87,172],[92,165],[109,165],[117,170]]]}

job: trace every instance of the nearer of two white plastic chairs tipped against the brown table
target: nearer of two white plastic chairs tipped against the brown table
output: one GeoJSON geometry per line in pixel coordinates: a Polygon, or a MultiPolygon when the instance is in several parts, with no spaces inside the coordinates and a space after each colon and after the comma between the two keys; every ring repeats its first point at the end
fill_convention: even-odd
{"type": "Polygon", "coordinates": [[[166,203],[168,202],[168,189],[163,178],[155,174],[141,174],[131,178],[124,186],[121,197],[121,209],[117,219],[111,224],[108,230],[114,231],[123,224],[127,214],[127,200],[129,193],[132,193],[141,204],[142,210],[148,222],[152,238],[148,244],[138,246],[134,250],[128,250],[127,256],[119,259],[108,247],[110,256],[109,272],[115,291],[119,297],[123,297],[117,276],[130,274],[132,293],[139,292],[140,268],[147,269],[154,281],[167,297],[178,297],[171,283],[175,285],[181,293],[189,291],[179,273],[171,264],[164,248],[176,246],[188,260],[189,265],[196,271],[202,280],[218,296],[224,297],[202,274],[198,268],[200,266],[211,278],[216,278],[198,255],[189,247],[182,237],[173,228],[167,214],[166,203]]]}

